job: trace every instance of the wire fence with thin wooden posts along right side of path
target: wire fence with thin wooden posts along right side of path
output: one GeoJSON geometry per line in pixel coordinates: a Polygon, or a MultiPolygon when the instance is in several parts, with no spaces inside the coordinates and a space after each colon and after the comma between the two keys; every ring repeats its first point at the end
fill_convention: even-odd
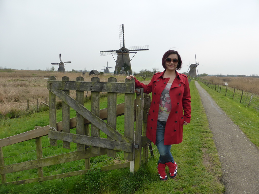
{"type": "Polygon", "coordinates": [[[227,98],[233,99],[236,102],[244,104],[248,107],[252,107],[259,111],[259,96],[257,94],[246,92],[244,90],[238,90],[235,87],[231,88],[227,85],[219,85],[204,79],[200,79],[200,81],[212,90],[225,95],[227,98]]]}

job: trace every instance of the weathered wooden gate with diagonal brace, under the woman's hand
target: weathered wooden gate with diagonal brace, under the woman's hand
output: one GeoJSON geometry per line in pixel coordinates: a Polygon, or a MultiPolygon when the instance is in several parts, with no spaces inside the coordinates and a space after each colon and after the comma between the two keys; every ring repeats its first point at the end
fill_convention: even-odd
{"type": "MultiPolygon", "coordinates": [[[[107,156],[116,157],[117,151],[124,151],[124,160],[131,161],[130,171],[133,173],[141,165],[143,88],[136,89],[137,95],[134,101],[135,80],[125,79],[125,83],[116,81],[117,79],[113,77],[108,78],[108,82],[100,82],[98,77],[93,77],[91,82],[83,81],[83,77],[77,77],[76,81],[69,81],[68,77],[63,77],[62,81],[56,81],[54,76],[49,77],[50,130],[48,137],[51,145],[57,145],[57,140],[62,140],[63,147],[68,149],[71,142],[77,143],[77,151],[81,152],[85,152],[85,148],[91,146],[87,149],[87,153],[92,156],[103,155],[107,152],[107,156]],[[69,96],[69,90],[76,91],[76,99],[69,96]],[[91,110],[84,107],[84,91],[91,91],[91,110]],[[107,92],[107,123],[99,117],[100,92],[107,92]],[[117,93],[125,94],[124,135],[116,130],[117,93]],[[56,96],[62,100],[63,132],[56,130],[56,96]],[[70,107],[76,110],[76,134],[70,133],[70,107]],[[88,123],[91,123],[91,134],[88,123]],[[107,138],[100,137],[100,130],[107,135],[107,138]]],[[[150,98],[147,104],[150,105],[150,98]]],[[[145,146],[147,146],[146,141],[143,142],[145,146]]],[[[89,169],[90,157],[85,164],[85,167],[89,169]]]]}

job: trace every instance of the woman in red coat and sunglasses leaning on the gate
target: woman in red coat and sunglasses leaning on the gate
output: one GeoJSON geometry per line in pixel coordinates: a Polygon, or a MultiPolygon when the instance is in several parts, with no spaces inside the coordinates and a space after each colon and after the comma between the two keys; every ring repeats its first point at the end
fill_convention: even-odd
{"type": "Polygon", "coordinates": [[[182,59],[177,51],[168,50],[163,58],[163,72],[155,73],[148,85],[140,83],[134,76],[135,87],[152,92],[152,102],[148,113],[147,137],[157,146],[160,157],[158,173],[160,180],[167,181],[166,166],[170,178],[177,176],[177,164],[171,154],[171,145],[183,141],[183,125],[191,121],[191,95],[186,75],[176,70],[182,68],[182,59]]]}

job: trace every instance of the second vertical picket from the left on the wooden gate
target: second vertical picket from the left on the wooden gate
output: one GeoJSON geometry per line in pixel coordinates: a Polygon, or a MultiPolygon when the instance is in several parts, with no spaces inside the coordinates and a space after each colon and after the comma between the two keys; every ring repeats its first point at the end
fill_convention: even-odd
{"type": "MultiPolygon", "coordinates": [[[[62,81],[69,81],[69,77],[63,76],[62,81]]],[[[69,95],[69,90],[63,90],[69,95]]],[[[62,101],[62,127],[63,132],[70,133],[70,107],[62,101]]],[[[70,149],[70,142],[63,141],[63,148],[70,149]]]]}

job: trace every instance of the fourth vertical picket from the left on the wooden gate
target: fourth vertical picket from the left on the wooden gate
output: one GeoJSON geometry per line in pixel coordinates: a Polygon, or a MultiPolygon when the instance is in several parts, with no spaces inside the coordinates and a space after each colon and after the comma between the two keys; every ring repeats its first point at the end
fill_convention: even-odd
{"type": "MultiPolygon", "coordinates": [[[[91,81],[99,82],[100,78],[92,77],[91,81]]],[[[91,112],[98,117],[100,116],[100,92],[91,92],[91,112]]],[[[91,136],[100,137],[100,130],[93,124],[91,124],[91,136]]],[[[93,154],[100,153],[100,147],[92,146],[91,148],[93,154]]]]}

